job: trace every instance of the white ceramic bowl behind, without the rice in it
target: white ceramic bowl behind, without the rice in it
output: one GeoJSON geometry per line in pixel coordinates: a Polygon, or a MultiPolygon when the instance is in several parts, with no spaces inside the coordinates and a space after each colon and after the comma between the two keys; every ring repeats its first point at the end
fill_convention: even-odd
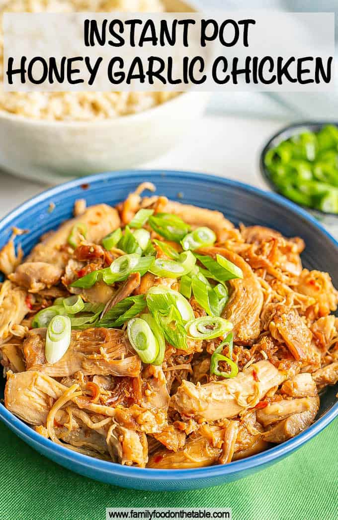
{"type": "MultiPolygon", "coordinates": [[[[165,0],[168,11],[193,11],[165,0]]],[[[43,181],[129,168],[169,150],[190,132],[208,93],[186,92],[137,114],[92,122],[43,121],[0,111],[0,168],[43,181]]]]}

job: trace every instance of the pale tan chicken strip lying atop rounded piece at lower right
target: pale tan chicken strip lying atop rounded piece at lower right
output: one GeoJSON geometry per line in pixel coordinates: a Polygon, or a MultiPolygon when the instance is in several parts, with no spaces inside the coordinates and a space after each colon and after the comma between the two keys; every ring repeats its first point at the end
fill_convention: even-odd
{"type": "Polygon", "coordinates": [[[313,397],[301,397],[299,399],[282,399],[272,402],[265,408],[257,410],[257,420],[263,426],[268,426],[295,413],[306,412],[311,408],[313,399],[313,397]]]}

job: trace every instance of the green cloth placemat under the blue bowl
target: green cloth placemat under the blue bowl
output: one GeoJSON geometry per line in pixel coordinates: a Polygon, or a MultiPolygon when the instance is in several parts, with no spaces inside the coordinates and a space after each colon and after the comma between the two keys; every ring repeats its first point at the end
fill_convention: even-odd
{"type": "Polygon", "coordinates": [[[234,520],[337,520],[338,421],[290,457],[209,489],[148,492],[81,477],[0,423],[1,520],[104,520],[106,507],[231,507],[234,520]]]}

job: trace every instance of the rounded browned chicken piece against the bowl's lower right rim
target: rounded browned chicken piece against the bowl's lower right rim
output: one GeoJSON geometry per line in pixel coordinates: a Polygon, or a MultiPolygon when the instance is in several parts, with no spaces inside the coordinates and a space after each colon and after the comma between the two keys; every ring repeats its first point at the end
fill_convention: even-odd
{"type": "Polygon", "coordinates": [[[268,443],[283,443],[306,430],[306,428],[314,422],[319,409],[318,396],[308,397],[307,399],[307,410],[301,413],[293,413],[288,418],[276,424],[272,424],[268,430],[263,433],[263,440],[268,443]]]}

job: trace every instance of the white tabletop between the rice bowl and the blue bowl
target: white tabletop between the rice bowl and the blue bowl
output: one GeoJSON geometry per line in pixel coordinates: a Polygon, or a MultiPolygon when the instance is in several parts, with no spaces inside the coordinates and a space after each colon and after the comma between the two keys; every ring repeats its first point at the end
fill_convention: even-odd
{"type": "MultiPolygon", "coordinates": [[[[174,149],[140,167],[208,172],[266,189],[259,173],[259,153],[283,124],[208,114],[174,149]]],[[[0,218],[47,187],[0,173],[0,218]]]]}

